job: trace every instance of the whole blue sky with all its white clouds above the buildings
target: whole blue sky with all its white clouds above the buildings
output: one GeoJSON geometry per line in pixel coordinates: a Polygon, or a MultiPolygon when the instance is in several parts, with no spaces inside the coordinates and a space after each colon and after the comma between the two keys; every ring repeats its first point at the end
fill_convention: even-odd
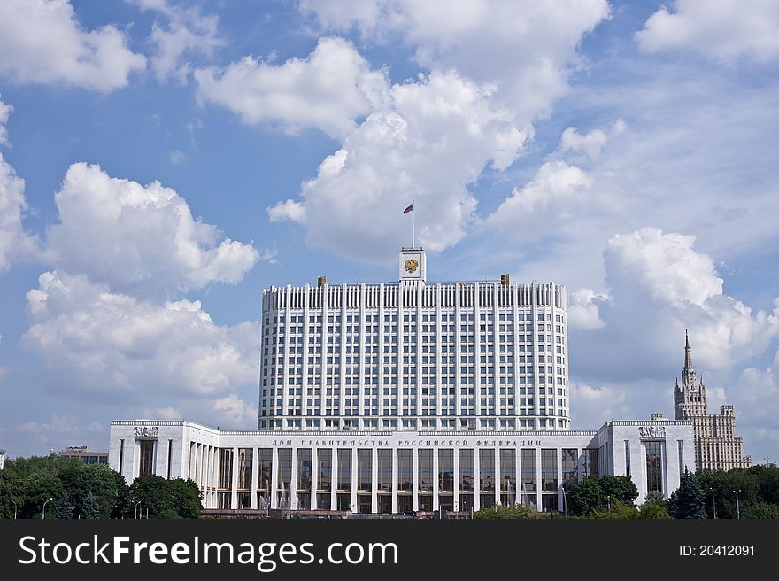
{"type": "Polygon", "coordinates": [[[251,428],[270,285],[554,280],[575,427],[779,444],[779,7],[0,2],[0,447],[251,428]]]}

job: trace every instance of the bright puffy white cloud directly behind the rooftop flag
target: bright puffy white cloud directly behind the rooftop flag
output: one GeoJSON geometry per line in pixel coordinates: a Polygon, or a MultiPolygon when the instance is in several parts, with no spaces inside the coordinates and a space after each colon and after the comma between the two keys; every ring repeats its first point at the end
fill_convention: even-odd
{"type": "Polygon", "coordinates": [[[388,262],[409,242],[403,208],[414,199],[420,244],[433,252],[456,244],[476,205],[466,184],[487,164],[504,169],[527,139],[490,91],[454,72],[393,86],[391,109],[369,115],[303,184],[303,199],[269,216],[305,223],[314,246],[388,262]]]}

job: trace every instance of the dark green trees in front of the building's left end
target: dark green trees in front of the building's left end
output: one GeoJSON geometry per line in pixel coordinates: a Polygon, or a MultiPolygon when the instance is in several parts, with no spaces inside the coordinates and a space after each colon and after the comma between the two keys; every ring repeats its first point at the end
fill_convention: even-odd
{"type": "Polygon", "coordinates": [[[202,506],[192,480],[136,478],[129,486],[105,464],[32,456],[0,470],[0,518],[197,518],[202,506]]]}

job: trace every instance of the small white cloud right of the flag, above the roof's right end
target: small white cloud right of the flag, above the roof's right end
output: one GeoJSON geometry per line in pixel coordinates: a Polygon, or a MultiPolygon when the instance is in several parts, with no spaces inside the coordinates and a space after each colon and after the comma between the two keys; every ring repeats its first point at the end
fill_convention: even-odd
{"type": "Polygon", "coordinates": [[[590,196],[590,185],[580,167],[548,161],[531,182],[512,190],[486,225],[514,240],[535,240],[570,221],[582,207],[599,205],[598,197],[590,196]]]}

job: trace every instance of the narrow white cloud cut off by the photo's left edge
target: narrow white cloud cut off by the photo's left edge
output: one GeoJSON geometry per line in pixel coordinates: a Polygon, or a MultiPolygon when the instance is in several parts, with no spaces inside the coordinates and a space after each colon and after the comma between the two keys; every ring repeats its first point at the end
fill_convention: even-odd
{"type": "MultiPolygon", "coordinates": [[[[0,101],[0,145],[10,145],[5,123],[13,108],[0,101]]],[[[38,240],[22,225],[27,210],[25,182],[0,153],[0,274],[6,272],[12,260],[35,256],[38,240]]]]}

